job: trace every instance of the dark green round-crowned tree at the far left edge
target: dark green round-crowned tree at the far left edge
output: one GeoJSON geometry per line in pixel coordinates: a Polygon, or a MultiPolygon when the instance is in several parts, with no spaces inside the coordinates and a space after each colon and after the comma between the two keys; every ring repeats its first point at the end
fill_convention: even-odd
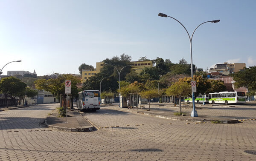
{"type": "MultiPolygon", "coordinates": [[[[16,99],[19,93],[26,88],[26,84],[20,79],[14,77],[3,78],[0,81],[0,91],[4,94],[8,107],[8,97],[11,99],[16,99]]],[[[17,105],[17,102],[16,102],[17,105]]]]}

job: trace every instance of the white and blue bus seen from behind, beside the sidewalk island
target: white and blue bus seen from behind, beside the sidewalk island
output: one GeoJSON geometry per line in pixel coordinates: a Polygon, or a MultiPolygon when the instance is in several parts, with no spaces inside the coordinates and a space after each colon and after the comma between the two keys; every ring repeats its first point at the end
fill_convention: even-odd
{"type": "Polygon", "coordinates": [[[84,109],[92,109],[93,111],[100,109],[101,98],[98,90],[85,90],[79,92],[78,95],[76,104],[80,111],[84,109]]]}

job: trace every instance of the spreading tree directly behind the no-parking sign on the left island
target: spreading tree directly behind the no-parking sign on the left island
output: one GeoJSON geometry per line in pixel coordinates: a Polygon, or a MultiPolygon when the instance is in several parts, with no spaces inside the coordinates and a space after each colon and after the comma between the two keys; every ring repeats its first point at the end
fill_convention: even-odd
{"type": "Polygon", "coordinates": [[[37,89],[44,89],[45,91],[51,92],[57,98],[62,97],[64,100],[66,100],[65,80],[71,80],[71,95],[76,96],[78,94],[76,84],[80,83],[81,80],[73,75],[58,75],[57,78],[52,78],[49,80],[38,79],[35,81],[35,86],[37,89]]]}

